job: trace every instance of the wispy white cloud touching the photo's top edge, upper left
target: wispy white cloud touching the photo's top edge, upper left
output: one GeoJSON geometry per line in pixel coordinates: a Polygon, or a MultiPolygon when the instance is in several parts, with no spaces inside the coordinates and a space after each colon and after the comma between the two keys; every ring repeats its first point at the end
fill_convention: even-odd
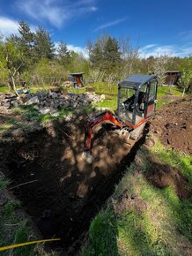
{"type": "Polygon", "coordinates": [[[86,13],[97,11],[94,0],[58,1],[58,0],[18,0],[17,7],[38,21],[48,21],[60,27],[67,21],[86,13]]]}

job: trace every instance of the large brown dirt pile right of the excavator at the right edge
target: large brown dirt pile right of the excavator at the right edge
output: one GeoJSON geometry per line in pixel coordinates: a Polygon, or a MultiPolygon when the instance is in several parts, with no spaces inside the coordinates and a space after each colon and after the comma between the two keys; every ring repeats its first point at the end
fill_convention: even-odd
{"type": "Polygon", "coordinates": [[[156,112],[151,120],[151,132],[165,146],[192,154],[192,96],[172,102],[156,112]]]}

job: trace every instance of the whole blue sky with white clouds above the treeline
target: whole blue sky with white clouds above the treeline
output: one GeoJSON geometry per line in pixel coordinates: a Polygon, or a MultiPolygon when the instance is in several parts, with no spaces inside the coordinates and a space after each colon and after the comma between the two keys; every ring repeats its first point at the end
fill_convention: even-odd
{"type": "Polygon", "coordinates": [[[0,0],[2,34],[16,34],[21,19],[77,51],[105,32],[138,42],[141,56],[192,55],[191,0],[0,0]]]}

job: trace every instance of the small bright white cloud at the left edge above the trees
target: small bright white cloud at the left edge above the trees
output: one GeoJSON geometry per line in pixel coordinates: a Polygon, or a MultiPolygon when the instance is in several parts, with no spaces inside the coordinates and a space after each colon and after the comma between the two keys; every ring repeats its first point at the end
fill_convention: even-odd
{"type": "Polygon", "coordinates": [[[4,37],[10,34],[18,34],[18,21],[0,16],[0,32],[4,37]]]}

